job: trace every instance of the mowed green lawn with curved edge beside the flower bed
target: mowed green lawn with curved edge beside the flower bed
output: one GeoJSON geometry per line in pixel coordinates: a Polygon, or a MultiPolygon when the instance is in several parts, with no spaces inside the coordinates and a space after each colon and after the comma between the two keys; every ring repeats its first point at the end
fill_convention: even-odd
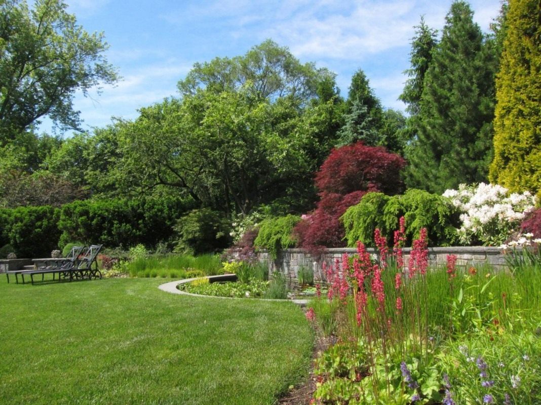
{"type": "Polygon", "coordinates": [[[308,372],[313,333],[293,303],[0,276],[1,404],[272,404],[308,372]]]}

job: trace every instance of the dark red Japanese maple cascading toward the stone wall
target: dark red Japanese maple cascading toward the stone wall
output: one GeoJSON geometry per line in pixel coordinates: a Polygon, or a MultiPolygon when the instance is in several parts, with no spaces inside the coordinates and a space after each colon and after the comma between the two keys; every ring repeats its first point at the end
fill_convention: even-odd
{"type": "Polygon", "coordinates": [[[320,201],[295,227],[299,246],[313,253],[346,246],[340,217],[369,191],[401,192],[399,172],[405,165],[403,158],[381,146],[358,142],[333,149],[316,173],[320,201]]]}

